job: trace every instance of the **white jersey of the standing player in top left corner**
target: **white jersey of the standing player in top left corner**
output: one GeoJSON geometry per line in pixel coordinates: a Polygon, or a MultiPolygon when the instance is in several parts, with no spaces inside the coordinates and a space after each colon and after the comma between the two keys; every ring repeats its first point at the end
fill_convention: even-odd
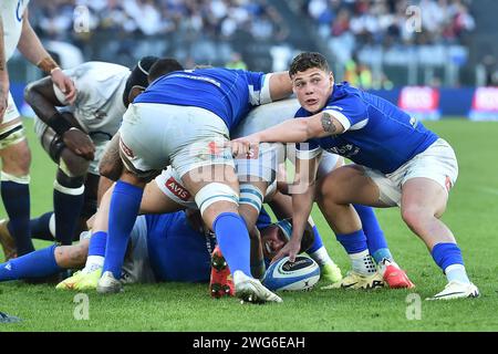
{"type": "Polygon", "coordinates": [[[29,0],[1,0],[0,13],[3,22],[3,48],[6,62],[18,48],[22,31],[22,15],[28,8],[29,0]]]}

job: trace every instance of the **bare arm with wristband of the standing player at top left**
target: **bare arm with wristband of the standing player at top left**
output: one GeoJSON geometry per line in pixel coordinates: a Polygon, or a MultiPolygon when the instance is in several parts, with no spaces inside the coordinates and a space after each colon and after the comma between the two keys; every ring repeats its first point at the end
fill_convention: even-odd
{"type": "Polygon", "coordinates": [[[46,74],[50,74],[53,83],[64,93],[68,102],[74,102],[76,97],[74,83],[62,72],[58,63],[43,48],[40,39],[29,22],[28,9],[25,9],[23,14],[21,38],[19,39],[18,49],[31,63],[35,64],[46,74]]]}

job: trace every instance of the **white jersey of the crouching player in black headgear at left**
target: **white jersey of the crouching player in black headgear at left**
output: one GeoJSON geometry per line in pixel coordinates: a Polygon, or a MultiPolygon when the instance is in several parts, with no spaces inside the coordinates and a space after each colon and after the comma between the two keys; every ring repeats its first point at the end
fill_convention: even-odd
{"type": "MultiPolygon", "coordinates": [[[[76,101],[69,106],[80,125],[93,140],[110,140],[121,126],[126,107],[123,92],[129,69],[105,62],[86,62],[64,70],[76,87],[76,101]]],[[[61,103],[65,96],[59,87],[53,86],[61,103]]]]}

